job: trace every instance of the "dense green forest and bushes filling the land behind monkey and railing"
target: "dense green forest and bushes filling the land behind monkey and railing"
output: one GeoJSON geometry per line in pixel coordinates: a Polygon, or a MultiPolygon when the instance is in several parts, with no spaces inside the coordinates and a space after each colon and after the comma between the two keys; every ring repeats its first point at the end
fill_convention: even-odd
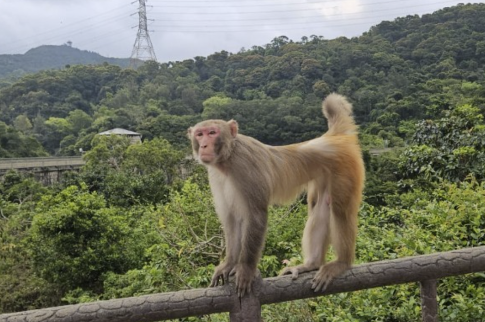
{"type": "MultiPolygon", "coordinates": [[[[281,35],[137,70],[4,80],[0,157],[82,149],[86,165],[53,186],[15,171],[0,181],[0,313],[207,287],[223,233],[187,128],[232,118],[266,144],[300,142],[327,129],[331,92],[354,105],[366,165],[356,264],[485,244],[485,4],[460,4],[351,39],[281,35]],[[96,136],[113,128],[143,142],[96,136]]],[[[263,277],[301,262],[306,217],[304,196],[270,209],[263,277]]],[[[438,304],[441,321],[485,321],[485,274],[438,281],[438,304]]],[[[262,310],[275,322],[420,321],[420,294],[404,284],[262,310]]]]}

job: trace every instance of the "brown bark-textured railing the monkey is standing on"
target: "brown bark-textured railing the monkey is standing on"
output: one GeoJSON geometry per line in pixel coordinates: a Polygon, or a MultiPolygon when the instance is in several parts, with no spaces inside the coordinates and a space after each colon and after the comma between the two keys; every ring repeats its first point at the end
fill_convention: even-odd
{"type": "Polygon", "coordinates": [[[423,322],[438,321],[436,280],[485,271],[485,246],[354,266],[324,292],[311,289],[313,273],[257,278],[239,298],[233,284],[0,315],[0,322],[155,322],[229,312],[231,322],[261,321],[261,305],[403,283],[420,283],[423,322]]]}

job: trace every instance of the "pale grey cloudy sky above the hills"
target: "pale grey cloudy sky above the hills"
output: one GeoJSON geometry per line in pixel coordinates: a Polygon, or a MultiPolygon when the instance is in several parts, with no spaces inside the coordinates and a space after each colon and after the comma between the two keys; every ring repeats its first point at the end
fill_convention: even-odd
{"type": "MultiPolygon", "coordinates": [[[[475,0],[473,3],[485,2],[475,0]]],[[[359,36],[383,20],[468,3],[457,0],[146,0],[159,62],[264,46],[277,36],[359,36]]],[[[0,0],[0,54],[62,45],[130,57],[138,0],[0,0]]]]}

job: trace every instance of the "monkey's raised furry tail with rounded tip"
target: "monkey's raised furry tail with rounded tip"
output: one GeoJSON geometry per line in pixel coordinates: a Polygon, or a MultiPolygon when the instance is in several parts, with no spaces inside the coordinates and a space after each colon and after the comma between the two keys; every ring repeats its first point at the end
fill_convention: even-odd
{"type": "Polygon", "coordinates": [[[327,135],[356,134],[357,126],[352,116],[352,104],[342,95],[332,93],[322,103],[323,115],[328,120],[327,135]]]}

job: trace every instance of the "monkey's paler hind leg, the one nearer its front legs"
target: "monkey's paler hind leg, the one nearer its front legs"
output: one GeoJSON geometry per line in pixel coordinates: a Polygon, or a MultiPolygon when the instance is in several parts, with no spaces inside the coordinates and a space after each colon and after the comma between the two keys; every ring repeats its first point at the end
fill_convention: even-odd
{"type": "Polygon", "coordinates": [[[308,189],[308,219],[303,231],[302,251],[304,262],[288,267],[281,275],[291,274],[292,279],[300,273],[315,271],[322,266],[330,243],[330,200],[327,193],[318,194],[308,189]]]}

